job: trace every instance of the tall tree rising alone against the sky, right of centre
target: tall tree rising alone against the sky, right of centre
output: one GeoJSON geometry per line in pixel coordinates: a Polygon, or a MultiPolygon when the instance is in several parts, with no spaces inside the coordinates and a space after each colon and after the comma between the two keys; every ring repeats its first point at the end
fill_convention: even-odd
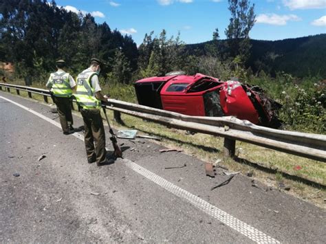
{"type": "Polygon", "coordinates": [[[228,0],[231,13],[230,24],[225,30],[228,43],[228,52],[231,58],[240,58],[246,63],[250,54],[249,32],[254,26],[256,15],[254,4],[250,6],[248,0],[228,0]]]}

